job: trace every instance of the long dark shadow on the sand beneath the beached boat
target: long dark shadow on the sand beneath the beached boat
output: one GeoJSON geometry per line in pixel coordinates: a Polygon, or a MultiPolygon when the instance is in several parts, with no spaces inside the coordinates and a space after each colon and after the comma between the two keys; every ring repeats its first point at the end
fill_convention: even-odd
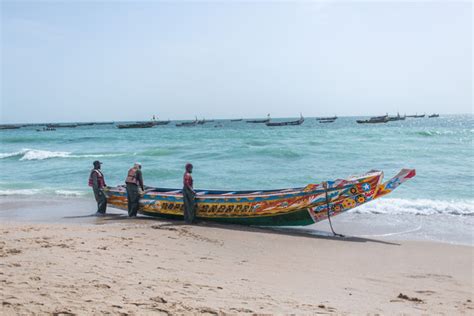
{"type": "Polygon", "coordinates": [[[109,215],[101,216],[101,217],[97,217],[97,219],[103,220],[103,221],[97,222],[97,224],[105,224],[105,222],[121,222],[121,221],[127,221],[127,222],[132,222],[132,223],[148,222],[148,223],[159,224],[159,225],[152,225],[151,228],[153,229],[161,229],[161,228],[166,229],[169,227],[200,226],[200,227],[206,227],[210,229],[233,230],[233,231],[241,231],[241,232],[258,232],[258,233],[264,233],[264,234],[287,235],[287,236],[296,236],[296,237],[301,237],[301,238],[325,239],[325,240],[335,240],[335,241],[342,241],[342,242],[372,242],[372,243],[380,243],[384,245],[400,246],[400,244],[398,243],[384,241],[384,240],[355,237],[355,236],[338,237],[338,236],[332,235],[332,233],[329,233],[329,232],[319,231],[319,230],[314,230],[314,229],[304,229],[304,228],[291,228],[291,227],[275,228],[275,227],[261,227],[261,226],[244,226],[244,225],[233,225],[233,224],[219,224],[219,223],[206,222],[206,221],[199,221],[196,224],[187,225],[183,223],[183,221],[181,220],[160,219],[160,218],[148,217],[148,216],[138,216],[138,217],[130,218],[127,215],[121,215],[121,214],[110,214],[110,216],[109,215]]]}

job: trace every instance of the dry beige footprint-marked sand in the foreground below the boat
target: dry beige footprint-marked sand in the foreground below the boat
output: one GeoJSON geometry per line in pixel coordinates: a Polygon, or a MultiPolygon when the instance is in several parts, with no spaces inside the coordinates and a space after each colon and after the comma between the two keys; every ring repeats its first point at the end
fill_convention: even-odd
{"type": "Polygon", "coordinates": [[[1,314],[473,313],[473,248],[127,219],[0,224],[1,314]]]}

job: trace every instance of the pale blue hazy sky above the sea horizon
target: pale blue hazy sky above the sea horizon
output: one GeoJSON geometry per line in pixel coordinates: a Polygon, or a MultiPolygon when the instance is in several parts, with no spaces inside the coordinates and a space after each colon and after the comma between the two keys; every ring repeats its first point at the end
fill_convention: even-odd
{"type": "Polygon", "coordinates": [[[465,2],[1,2],[1,121],[471,113],[465,2]]]}

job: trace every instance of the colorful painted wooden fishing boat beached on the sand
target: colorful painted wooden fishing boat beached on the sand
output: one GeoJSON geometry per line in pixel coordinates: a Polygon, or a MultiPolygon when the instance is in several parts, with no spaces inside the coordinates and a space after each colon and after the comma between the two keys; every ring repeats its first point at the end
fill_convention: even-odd
{"type": "MultiPolygon", "coordinates": [[[[303,188],[265,191],[197,190],[197,218],[257,226],[303,226],[335,216],[389,194],[414,177],[414,169],[403,169],[382,183],[382,171],[362,176],[309,184],[303,188]]],[[[124,186],[107,187],[109,206],[127,209],[124,186]]],[[[183,218],[183,195],[179,189],[147,187],[139,213],[164,218],[183,218]]]]}

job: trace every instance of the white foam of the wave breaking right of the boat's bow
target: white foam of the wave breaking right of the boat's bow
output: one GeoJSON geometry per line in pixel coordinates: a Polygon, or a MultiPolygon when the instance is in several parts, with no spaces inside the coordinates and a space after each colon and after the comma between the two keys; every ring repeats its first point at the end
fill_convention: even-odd
{"type": "Polygon", "coordinates": [[[352,211],[359,214],[474,216],[474,200],[380,199],[352,211]]]}

